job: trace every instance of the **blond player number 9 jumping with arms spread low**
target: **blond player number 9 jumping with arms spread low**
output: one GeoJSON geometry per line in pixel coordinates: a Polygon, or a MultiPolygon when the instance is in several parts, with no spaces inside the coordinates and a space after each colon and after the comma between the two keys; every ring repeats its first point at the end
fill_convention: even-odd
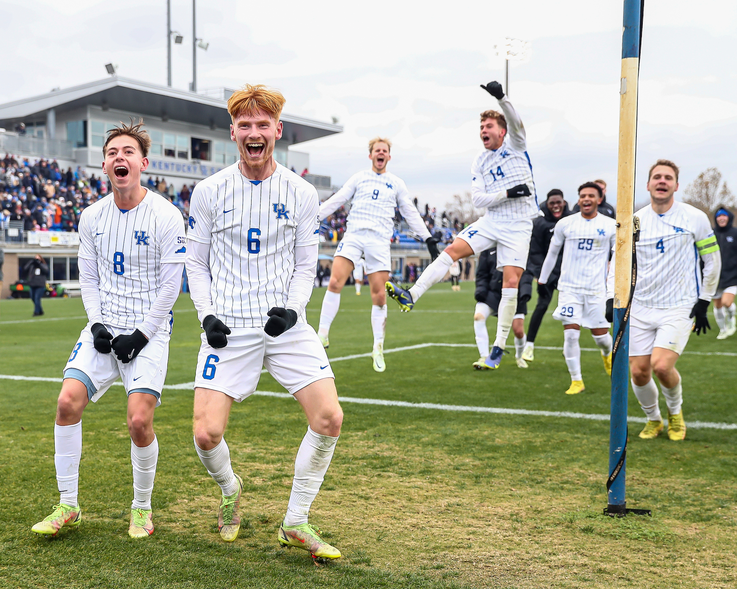
{"type": "Polygon", "coordinates": [[[391,236],[394,234],[394,209],[404,216],[410,230],[425,241],[433,258],[438,257],[439,239],[430,236],[425,222],[409,197],[404,180],[386,171],[391,161],[391,141],[375,137],[368,142],[371,169],[353,174],[343,188],[320,205],[320,218],[326,219],[346,202],[351,210],[346,222],[346,233],[335,250],[332,275],[323,297],[318,336],[325,348],[330,345],[328,335],[332,320],[340,307],[340,291],[349,274],[363,256],[368,287],[371,289],[371,328],[374,348],[371,360],[374,370],[383,373],[384,334],[386,331],[386,292],[384,285],[391,272],[391,236]]]}

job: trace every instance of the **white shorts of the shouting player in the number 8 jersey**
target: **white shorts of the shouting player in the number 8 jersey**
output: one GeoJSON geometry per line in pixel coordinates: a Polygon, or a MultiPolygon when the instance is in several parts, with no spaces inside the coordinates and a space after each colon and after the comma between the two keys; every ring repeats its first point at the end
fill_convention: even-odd
{"type": "MultiPolygon", "coordinates": [[[[172,315],[173,317],[173,315],[172,315]]],[[[65,378],[77,378],[87,385],[87,394],[90,401],[97,400],[105,395],[118,378],[123,381],[125,392],[150,392],[156,396],[156,406],[161,405],[161,390],[167,378],[167,364],[169,363],[169,339],[172,322],[167,321],[153,337],[148,340],[143,350],[128,364],[123,364],[116,358],[115,353],[101,354],[94,349],[94,336],[88,323],[80,334],[80,339],[71,350],[69,361],[66,362],[63,372],[65,378]],[[67,371],[71,369],[71,373],[67,371]],[[75,375],[80,370],[89,379],[85,382],[83,375],[75,375]]],[[[135,328],[117,328],[105,325],[113,337],[121,334],[132,334],[135,328]]]]}

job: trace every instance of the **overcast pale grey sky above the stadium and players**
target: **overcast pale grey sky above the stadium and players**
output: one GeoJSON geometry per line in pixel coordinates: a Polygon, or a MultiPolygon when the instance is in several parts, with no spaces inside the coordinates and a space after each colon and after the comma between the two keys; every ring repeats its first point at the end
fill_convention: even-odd
{"type": "MultiPolygon", "coordinates": [[[[718,167],[737,188],[737,3],[646,0],[640,63],[638,192],[656,158],[681,166],[681,190],[718,167]]],[[[479,84],[503,80],[493,46],[531,41],[513,64],[509,97],[525,122],[539,194],[595,177],[615,195],[622,2],[280,0],[198,2],[198,88],[245,82],[281,89],[285,112],[345,132],[298,147],[310,171],[341,184],[368,167],[374,135],[394,141],[389,169],[420,202],[442,206],[469,189],[481,149],[478,113],[496,107],[479,84]]],[[[0,102],[119,75],[166,84],[166,1],[3,2],[0,102]]],[[[172,0],[173,85],[192,75],[192,1],[172,0]]]]}

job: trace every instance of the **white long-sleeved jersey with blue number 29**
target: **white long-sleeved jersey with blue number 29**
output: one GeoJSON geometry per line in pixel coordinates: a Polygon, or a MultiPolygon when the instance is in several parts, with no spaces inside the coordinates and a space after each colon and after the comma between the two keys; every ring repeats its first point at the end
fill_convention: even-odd
{"type": "MultiPolygon", "coordinates": [[[[607,265],[609,252],[614,246],[617,222],[598,213],[593,219],[584,219],[574,213],[560,219],[553,230],[548,255],[552,264],[543,263],[547,269],[554,266],[560,247],[563,246],[563,263],[558,279],[560,292],[576,294],[600,294],[607,292],[607,265]]],[[[542,280],[547,281],[548,276],[542,280]]]]}

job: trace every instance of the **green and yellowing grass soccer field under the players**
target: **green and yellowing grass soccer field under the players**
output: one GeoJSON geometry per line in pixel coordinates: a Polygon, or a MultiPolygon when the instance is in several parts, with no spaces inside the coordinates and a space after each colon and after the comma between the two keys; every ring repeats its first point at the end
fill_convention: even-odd
{"type": "MultiPolygon", "coordinates": [[[[473,343],[472,283],[441,284],[411,314],[390,301],[386,348],[473,343]]],[[[367,290],[367,289],[366,289],[367,290]]],[[[318,322],[324,289],[308,309],[318,322]]],[[[0,303],[0,373],[60,378],[85,325],[80,299],[0,303]]],[[[371,351],[368,292],[343,291],[329,356],[371,351]]],[[[192,303],[175,306],[167,384],[194,380],[200,328],[192,303]]],[[[712,320],[712,325],[714,325],[712,320]]],[[[495,329],[495,320],[489,320],[495,329]]],[[[692,336],[688,351],[737,353],[737,336],[692,336]]],[[[539,346],[561,346],[545,318],[539,346]]],[[[594,348],[590,334],[581,346],[594,348]]],[[[513,348],[512,348],[513,349],[513,348]]],[[[536,350],[528,370],[471,369],[475,348],[428,347],[336,361],[345,397],[606,414],[609,381],[598,353],[582,358],[587,389],[569,397],[559,350],[536,350]]],[[[736,358],[685,354],[687,421],[736,423],[736,358]]],[[[652,518],[613,520],[605,478],[606,421],[448,412],[343,403],[343,433],[312,506],[338,562],[316,568],[284,551],[276,529],[306,423],[291,399],[253,396],[234,406],[226,434],[245,481],[240,538],[217,535],[219,488],[192,447],[192,390],[166,389],[154,426],[161,452],[153,493],[156,533],[130,540],[130,438],[125,394],[112,387],[85,411],[83,525],[56,539],[30,526],[58,500],[53,420],[60,385],[0,379],[0,587],[12,588],[727,588],[737,585],[734,430],[690,428],[684,442],[640,440],[630,425],[628,507],[652,518]]],[[[270,375],[260,391],[283,392],[270,375]]],[[[661,397],[663,412],[666,411],[661,397]]],[[[641,417],[634,395],[629,413],[641,417]]],[[[664,414],[665,415],[665,414],[664,414]]]]}

